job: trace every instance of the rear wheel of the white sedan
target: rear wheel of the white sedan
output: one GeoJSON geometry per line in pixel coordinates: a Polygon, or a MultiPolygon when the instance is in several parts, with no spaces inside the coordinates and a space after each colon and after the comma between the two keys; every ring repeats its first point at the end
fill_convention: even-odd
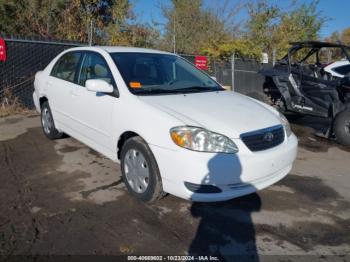
{"type": "Polygon", "coordinates": [[[63,137],[63,133],[59,132],[55,127],[55,122],[47,101],[41,106],[41,127],[48,139],[55,140],[63,137]]]}

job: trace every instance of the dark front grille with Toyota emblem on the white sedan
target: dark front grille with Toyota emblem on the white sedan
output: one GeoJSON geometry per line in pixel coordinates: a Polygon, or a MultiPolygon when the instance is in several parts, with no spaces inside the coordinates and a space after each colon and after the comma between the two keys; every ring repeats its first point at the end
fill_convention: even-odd
{"type": "Polygon", "coordinates": [[[284,141],[282,125],[241,134],[244,144],[253,152],[278,146],[284,141]]]}

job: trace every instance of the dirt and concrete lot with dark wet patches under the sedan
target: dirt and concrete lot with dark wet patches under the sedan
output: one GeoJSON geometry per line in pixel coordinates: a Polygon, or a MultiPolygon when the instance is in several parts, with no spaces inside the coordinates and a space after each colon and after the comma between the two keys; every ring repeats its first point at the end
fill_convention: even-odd
{"type": "Polygon", "coordinates": [[[126,193],[117,164],[72,138],[49,141],[39,123],[37,115],[0,119],[0,255],[349,259],[350,150],[311,129],[293,126],[292,172],[258,194],[146,205],[126,193]]]}

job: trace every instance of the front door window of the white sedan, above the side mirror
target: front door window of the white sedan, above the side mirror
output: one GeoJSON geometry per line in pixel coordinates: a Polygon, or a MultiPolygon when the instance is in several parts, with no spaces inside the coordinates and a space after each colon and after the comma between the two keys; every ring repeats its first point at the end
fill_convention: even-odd
{"type": "Polygon", "coordinates": [[[79,72],[79,85],[85,86],[86,80],[101,79],[113,84],[112,73],[104,58],[97,53],[86,53],[79,72]]]}

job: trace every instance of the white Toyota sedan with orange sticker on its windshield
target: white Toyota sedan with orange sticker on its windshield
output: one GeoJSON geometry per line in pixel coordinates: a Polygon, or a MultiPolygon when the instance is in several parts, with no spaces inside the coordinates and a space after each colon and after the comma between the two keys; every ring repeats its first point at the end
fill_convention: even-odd
{"type": "Polygon", "coordinates": [[[128,191],[143,201],[250,194],[285,177],[296,157],[283,115],[171,53],[73,48],[34,86],[44,134],[69,134],[120,163],[128,191]]]}

